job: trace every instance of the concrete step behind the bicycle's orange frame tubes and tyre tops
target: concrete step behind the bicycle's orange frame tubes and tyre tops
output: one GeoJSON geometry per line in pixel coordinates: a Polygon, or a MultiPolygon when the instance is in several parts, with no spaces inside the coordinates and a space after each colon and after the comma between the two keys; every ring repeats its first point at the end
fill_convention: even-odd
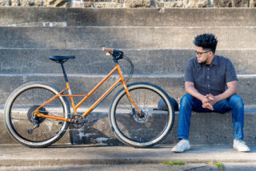
{"type": "MultiPolygon", "coordinates": [[[[104,75],[105,76],[105,75],[104,75]]],[[[86,94],[89,93],[95,85],[98,84],[103,78],[103,75],[86,75],[86,74],[69,74],[70,87],[73,94],[86,94]]],[[[25,82],[41,81],[49,82],[52,85],[57,85],[59,89],[65,88],[65,82],[62,74],[0,74],[1,79],[1,89],[0,89],[0,105],[4,105],[7,97],[14,89],[18,88],[19,85],[24,84],[25,82]]],[[[98,89],[94,96],[88,98],[87,105],[92,104],[98,99],[110,87],[114,84],[117,77],[110,77],[98,89]]],[[[242,97],[246,105],[254,105],[256,101],[256,75],[238,75],[238,94],[242,97]]],[[[156,85],[159,85],[168,93],[171,97],[174,97],[178,102],[181,97],[184,95],[184,82],[183,75],[149,75],[149,74],[134,74],[134,77],[130,79],[128,83],[132,82],[150,82],[156,85]]],[[[121,85],[118,89],[121,88],[121,85]]],[[[116,90],[118,90],[116,89],[116,90]]],[[[102,102],[103,105],[109,105],[114,93],[106,98],[102,102]]],[[[76,98],[75,102],[77,103],[80,98],[76,98]]]]}

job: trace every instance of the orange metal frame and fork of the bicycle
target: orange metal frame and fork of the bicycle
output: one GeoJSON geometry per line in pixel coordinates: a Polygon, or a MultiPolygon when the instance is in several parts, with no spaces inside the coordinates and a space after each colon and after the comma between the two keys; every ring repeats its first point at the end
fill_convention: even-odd
{"type": "MultiPolygon", "coordinates": [[[[65,74],[65,71],[64,71],[64,69],[63,69],[64,76],[65,76],[65,79],[66,79],[66,89],[62,89],[62,91],[60,91],[60,92],[59,92],[58,94],[56,94],[54,97],[50,98],[50,99],[49,99],[48,101],[46,101],[44,104],[42,104],[41,106],[39,106],[38,109],[41,109],[42,107],[45,107],[46,105],[50,104],[50,102],[51,102],[51,101],[54,101],[54,99],[57,98],[57,97],[70,97],[71,105],[72,105],[72,108],[74,109],[74,114],[77,114],[77,109],[78,109],[78,107],[79,107],[80,105],[82,105],[82,103],[83,103],[84,101],[86,101],[86,99],[87,99],[88,97],[90,97],[90,96],[96,91],[96,89],[98,89],[104,82],[106,82],[106,80],[107,80],[108,78],[110,78],[110,76],[111,76],[112,74],[114,74],[114,72],[117,71],[117,70],[118,70],[118,74],[119,74],[119,79],[118,79],[118,81],[115,82],[113,85],[111,85],[110,88],[107,89],[106,92],[103,93],[102,96],[99,97],[98,100],[95,101],[94,104],[91,105],[90,108],[87,109],[87,111],[82,114],[82,117],[86,117],[86,116],[94,109],[94,107],[97,106],[98,103],[99,103],[100,101],[102,101],[102,99],[104,99],[104,97],[106,97],[106,96],[111,92],[111,90],[114,89],[114,87],[115,87],[116,85],[118,85],[120,82],[122,83],[124,89],[126,90],[126,94],[127,94],[127,96],[129,97],[131,104],[134,105],[134,108],[137,109],[137,110],[138,110],[138,113],[141,115],[141,112],[140,112],[140,110],[138,109],[138,105],[136,105],[136,104],[134,103],[132,97],[130,96],[130,93],[129,93],[129,90],[128,90],[126,81],[125,81],[125,79],[124,79],[124,77],[123,77],[123,75],[122,75],[122,70],[121,70],[120,65],[119,65],[118,63],[116,63],[114,69],[111,70],[110,73],[107,74],[106,77],[103,78],[102,81],[99,82],[98,85],[96,85],[96,86],[94,87],[94,89],[92,89],[92,90],[90,91],[90,93],[88,93],[88,94],[86,94],[86,95],[73,95],[73,94],[71,93],[70,84],[69,84],[69,82],[68,82],[68,80],[67,80],[67,78],[66,78],[66,74],[65,74]],[[62,93],[64,93],[66,90],[68,91],[69,94],[62,94],[62,93]],[[84,97],[83,97],[83,96],[84,96],[84,97]],[[83,97],[83,98],[82,98],[81,101],[78,102],[77,105],[74,105],[74,99],[73,99],[73,97],[83,97]]],[[[34,112],[37,117],[46,117],[46,118],[55,119],[55,120],[60,120],[60,121],[70,121],[69,118],[55,117],[55,116],[51,116],[51,115],[45,115],[45,114],[43,114],[43,113],[38,112],[38,109],[36,109],[35,112],[34,112]]]]}

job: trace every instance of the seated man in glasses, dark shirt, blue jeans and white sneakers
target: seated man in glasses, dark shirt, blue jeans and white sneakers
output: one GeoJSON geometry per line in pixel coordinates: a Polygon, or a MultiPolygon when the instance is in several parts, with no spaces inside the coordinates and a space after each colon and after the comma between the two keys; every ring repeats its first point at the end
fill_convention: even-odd
{"type": "Polygon", "coordinates": [[[214,34],[200,34],[194,38],[196,57],[186,65],[185,90],[178,117],[178,138],[172,149],[183,152],[190,149],[189,131],[191,112],[226,113],[231,111],[234,127],[234,149],[249,152],[243,141],[244,105],[237,95],[237,75],[228,58],[214,55],[217,38],[214,34]]]}

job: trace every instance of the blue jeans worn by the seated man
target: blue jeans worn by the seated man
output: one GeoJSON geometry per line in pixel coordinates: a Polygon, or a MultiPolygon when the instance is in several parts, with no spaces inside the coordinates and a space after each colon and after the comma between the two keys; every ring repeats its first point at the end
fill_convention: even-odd
{"type": "Polygon", "coordinates": [[[202,108],[202,101],[185,94],[182,97],[179,116],[178,116],[178,138],[189,139],[190,132],[190,117],[191,112],[216,112],[226,113],[231,111],[232,121],[234,128],[234,139],[243,140],[243,118],[244,118],[244,105],[242,98],[237,94],[230,96],[229,98],[218,101],[214,104],[214,111],[210,109],[202,108]]]}

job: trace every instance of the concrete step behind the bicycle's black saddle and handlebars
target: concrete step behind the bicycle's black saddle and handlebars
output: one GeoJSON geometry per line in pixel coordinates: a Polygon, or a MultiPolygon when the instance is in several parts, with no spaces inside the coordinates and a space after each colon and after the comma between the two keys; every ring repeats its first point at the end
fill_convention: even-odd
{"type": "MultiPolygon", "coordinates": [[[[194,50],[123,50],[134,64],[134,74],[184,74],[186,62],[194,50]]],[[[255,74],[256,50],[217,50],[216,54],[230,58],[237,74],[255,74]]],[[[74,55],[65,63],[68,74],[107,74],[114,63],[101,49],[0,49],[0,74],[62,73],[61,66],[49,60],[50,55],[74,55]],[[46,70],[47,68],[47,70],[46,70]]],[[[124,74],[130,64],[119,61],[124,74]]]]}

